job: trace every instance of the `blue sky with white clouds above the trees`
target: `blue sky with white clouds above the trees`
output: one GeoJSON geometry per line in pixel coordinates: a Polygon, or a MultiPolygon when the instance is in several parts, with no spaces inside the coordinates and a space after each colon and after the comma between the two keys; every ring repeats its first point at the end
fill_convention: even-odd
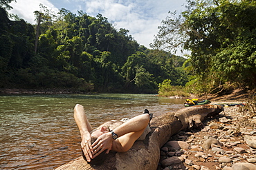
{"type": "Polygon", "coordinates": [[[17,3],[10,3],[13,9],[9,12],[35,23],[33,12],[39,10],[40,3],[56,13],[61,8],[75,14],[83,10],[92,17],[100,13],[116,29],[129,30],[129,34],[146,47],[153,42],[168,11],[181,13],[185,9],[185,0],[17,0],[17,3]]]}

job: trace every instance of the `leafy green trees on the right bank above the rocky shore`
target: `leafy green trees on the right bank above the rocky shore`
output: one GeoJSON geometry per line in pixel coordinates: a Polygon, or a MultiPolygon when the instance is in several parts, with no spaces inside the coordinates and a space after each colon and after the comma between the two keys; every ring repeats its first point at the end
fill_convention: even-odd
{"type": "Polygon", "coordinates": [[[188,1],[171,13],[152,46],[190,50],[191,92],[218,92],[229,85],[256,87],[256,1],[188,1]]]}

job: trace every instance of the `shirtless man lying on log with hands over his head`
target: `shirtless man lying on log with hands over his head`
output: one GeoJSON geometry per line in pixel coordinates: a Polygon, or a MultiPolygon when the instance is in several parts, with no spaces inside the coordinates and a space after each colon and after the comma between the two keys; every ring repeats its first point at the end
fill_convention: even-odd
{"type": "Polygon", "coordinates": [[[91,164],[100,164],[109,151],[128,151],[136,140],[144,140],[150,131],[149,121],[152,114],[145,109],[144,114],[129,120],[111,120],[92,129],[84,107],[75,105],[74,118],[80,130],[82,156],[91,164]]]}

